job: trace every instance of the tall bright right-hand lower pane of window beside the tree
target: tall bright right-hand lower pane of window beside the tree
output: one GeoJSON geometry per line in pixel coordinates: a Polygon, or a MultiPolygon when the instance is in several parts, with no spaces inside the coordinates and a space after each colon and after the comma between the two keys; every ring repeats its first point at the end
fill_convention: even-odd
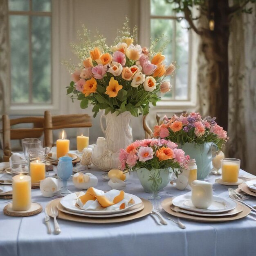
{"type": "Polygon", "coordinates": [[[175,99],[188,99],[189,31],[185,20],[176,22],[176,70],[175,99]]]}

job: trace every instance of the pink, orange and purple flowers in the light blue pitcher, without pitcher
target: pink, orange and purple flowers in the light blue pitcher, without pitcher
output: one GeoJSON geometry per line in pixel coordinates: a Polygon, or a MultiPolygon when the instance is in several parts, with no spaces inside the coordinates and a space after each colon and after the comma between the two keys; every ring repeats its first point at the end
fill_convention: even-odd
{"type": "Polygon", "coordinates": [[[215,117],[202,118],[199,113],[182,114],[180,117],[173,115],[165,117],[163,123],[155,126],[154,137],[160,137],[184,144],[186,142],[202,144],[213,142],[222,148],[229,137],[227,132],[218,124],[215,117]]]}

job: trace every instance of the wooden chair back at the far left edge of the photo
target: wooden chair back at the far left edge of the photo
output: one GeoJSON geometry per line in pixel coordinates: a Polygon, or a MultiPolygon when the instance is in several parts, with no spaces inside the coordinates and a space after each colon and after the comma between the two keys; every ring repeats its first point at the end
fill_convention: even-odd
{"type": "Polygon", "coordinates": [[[11,156],[11,140],[25,138],[40,138],[44,132],[44,117],[21,117],[9,119],[8,115],[2,116],[3,135],[3,161],[8,162],[11,156]],[[17,124],[33,124],[33,128],[13,128],[17,124]]]}

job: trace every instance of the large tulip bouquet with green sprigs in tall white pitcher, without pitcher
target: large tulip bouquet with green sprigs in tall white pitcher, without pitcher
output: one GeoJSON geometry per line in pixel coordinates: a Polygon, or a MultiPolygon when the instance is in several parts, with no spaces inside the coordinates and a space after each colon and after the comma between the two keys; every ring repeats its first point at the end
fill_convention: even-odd
{"type": "Polygon", "coordinates": [[[130,33],[128,20],[123,31],[115,40],[115,45],[108,47],[106,38],[98,35],[94,42],[90,40],[90,31],[83,27],[81,45],[72,45],[74,53],[80,59],[79,65],[64,62],[72,73],[72,81],[67,87],[67,94],[72,94],[72,101],[81,101],[81,108],[93,105],[94,117],[99,110],[117,114],[129,111],[138,117],[149,112],[149,103],[156,106],[161,98],[158,92],[171,90],[169,81],[163,81],[175,70],[175,65],[165,65],[162,50],[154,52],[161,38],[153,41],[149,48],[134,44],[137,28],[130,33]]]}

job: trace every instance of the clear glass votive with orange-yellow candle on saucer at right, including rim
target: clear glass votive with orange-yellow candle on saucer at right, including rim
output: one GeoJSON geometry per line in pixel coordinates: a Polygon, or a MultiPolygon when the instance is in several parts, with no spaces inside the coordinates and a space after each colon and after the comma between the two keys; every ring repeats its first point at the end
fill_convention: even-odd
{"type": "Polygon", "coordinates": [[[238,182],[240,160],[236,158],[225,158],[221,160],[222,181],[238,182]]]}

